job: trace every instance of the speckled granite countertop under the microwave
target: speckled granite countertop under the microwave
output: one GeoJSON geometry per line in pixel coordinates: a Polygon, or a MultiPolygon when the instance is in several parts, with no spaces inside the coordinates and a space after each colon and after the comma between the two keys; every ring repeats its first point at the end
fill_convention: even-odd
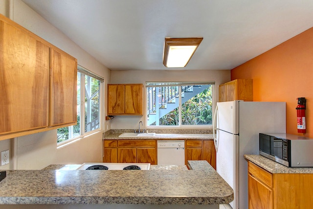
{"type": "Polygon", "coordinates": [[[287,167],[261,155],[245,155],[245,158],[270,173],[313,173],[313,167],[287,167]]]}

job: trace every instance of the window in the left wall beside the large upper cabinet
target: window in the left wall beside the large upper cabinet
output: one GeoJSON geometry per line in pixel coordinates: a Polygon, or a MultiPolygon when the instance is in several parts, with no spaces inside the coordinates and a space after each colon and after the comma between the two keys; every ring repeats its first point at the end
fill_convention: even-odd
{"type": "Polygon", "coordinates": [[[77,124],[59,128],[57,130],[58,143],[76,139],[100,129],[101,94],[99,92],[103,78],[80,66],[77,71],[77,124]]]}

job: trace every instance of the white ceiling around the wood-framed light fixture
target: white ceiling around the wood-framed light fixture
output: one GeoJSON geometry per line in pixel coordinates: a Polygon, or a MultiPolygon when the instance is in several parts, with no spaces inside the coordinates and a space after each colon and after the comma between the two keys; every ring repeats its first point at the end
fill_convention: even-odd
{"type": "Polygon", "coordinates": [[[22,1],[111,70],[182,70],[165,37],[203,37],[184,70],[229,70],[313,27],[313,0],[22,1]]]}

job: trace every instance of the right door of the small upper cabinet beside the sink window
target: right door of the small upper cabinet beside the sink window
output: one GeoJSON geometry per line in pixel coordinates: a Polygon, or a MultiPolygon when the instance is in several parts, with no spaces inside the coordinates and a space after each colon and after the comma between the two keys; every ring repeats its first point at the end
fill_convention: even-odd
{"type": "Polygon", "coordinates": [[[142,84],[125,85],[125,114],[143,115],[142,84]]]}

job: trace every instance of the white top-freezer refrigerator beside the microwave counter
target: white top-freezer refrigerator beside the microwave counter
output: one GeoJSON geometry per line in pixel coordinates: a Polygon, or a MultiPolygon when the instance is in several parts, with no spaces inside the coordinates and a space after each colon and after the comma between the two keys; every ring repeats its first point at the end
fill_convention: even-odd
{"type": "Polygon", "coordinates": [[[233,209],[248,208],[245,154],[259,154],[259,133],[286,133],[285,102],[218,102],[213,118],[216,170],[234,190],[233,209]]]}

